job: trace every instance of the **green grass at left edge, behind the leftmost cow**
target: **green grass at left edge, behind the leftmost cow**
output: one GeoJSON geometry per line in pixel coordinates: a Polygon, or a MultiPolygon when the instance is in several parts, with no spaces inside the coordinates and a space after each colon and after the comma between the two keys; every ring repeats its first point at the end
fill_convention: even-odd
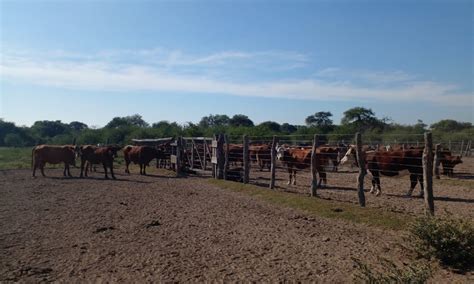
{"type": "Polygon", "coordinates": [[[0,170],[31,169],[31,149],[0,147],[0,170]]]}

